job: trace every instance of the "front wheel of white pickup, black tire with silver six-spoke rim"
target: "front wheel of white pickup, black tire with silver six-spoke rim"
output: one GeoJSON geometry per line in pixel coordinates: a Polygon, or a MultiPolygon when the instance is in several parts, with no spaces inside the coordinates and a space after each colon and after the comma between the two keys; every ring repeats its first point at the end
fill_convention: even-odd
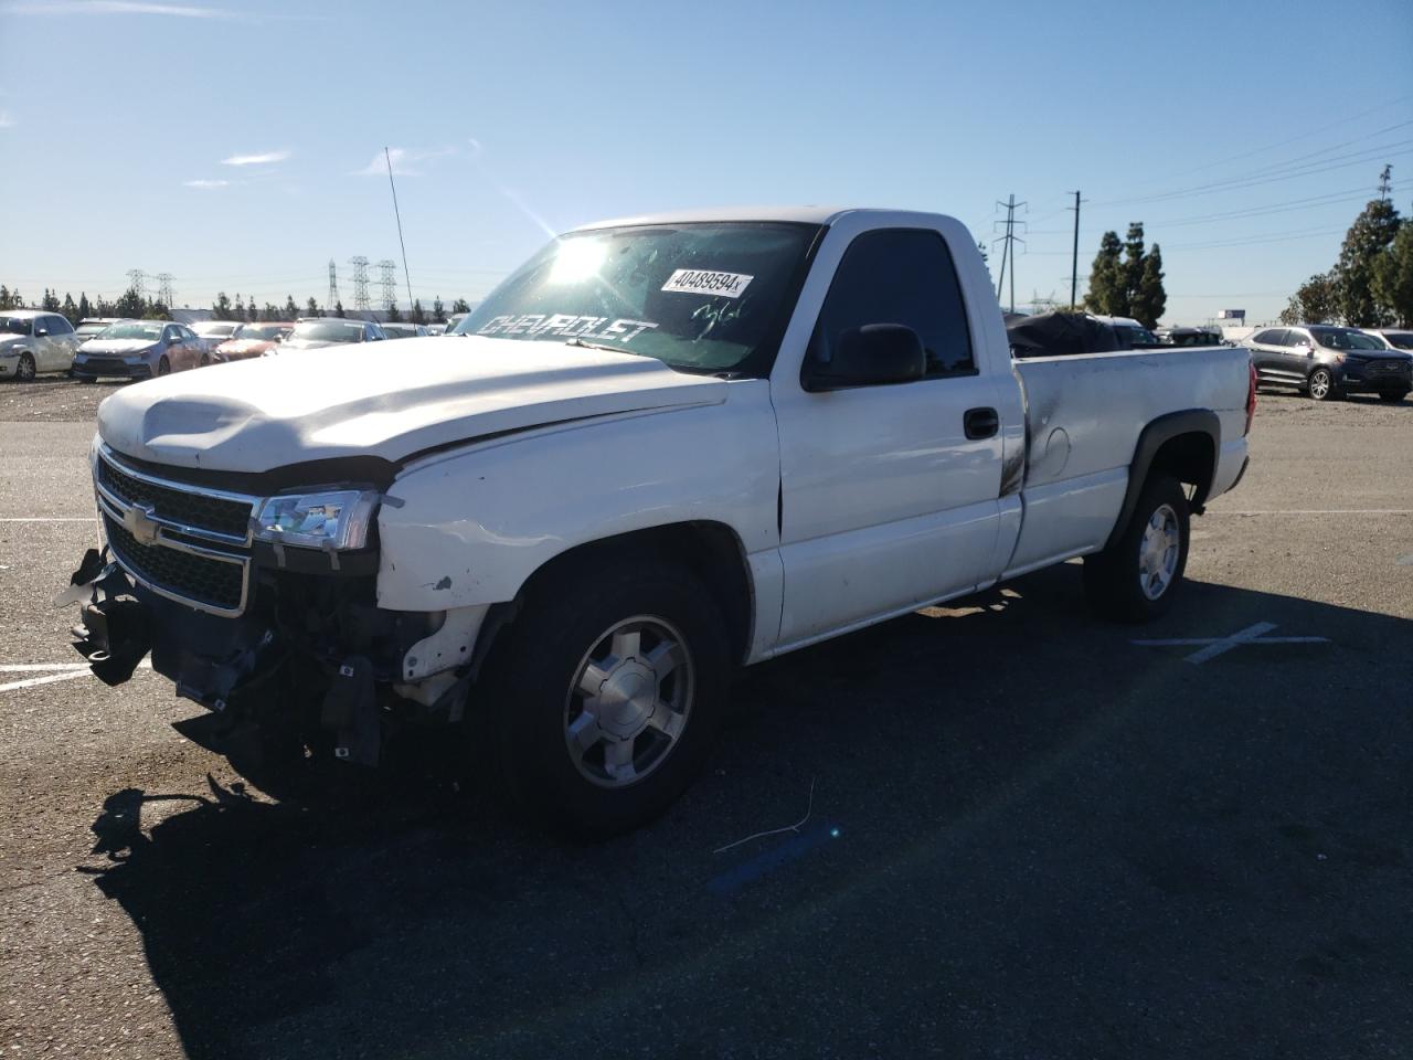
{"type": "MultiPolygon", "coordinates": [[[[723,626],[706,587],[651,554],[578,564],[531,587],[487,660],[486,729],[512,803],[584,840],[661,814],[702,767],[721,721],[723,626]],[[612,687],[612,707],[586,691],[595,685],[612,687]]],[[[475,714],[466,735],[475,767],[486,760],[475,714]]]]}

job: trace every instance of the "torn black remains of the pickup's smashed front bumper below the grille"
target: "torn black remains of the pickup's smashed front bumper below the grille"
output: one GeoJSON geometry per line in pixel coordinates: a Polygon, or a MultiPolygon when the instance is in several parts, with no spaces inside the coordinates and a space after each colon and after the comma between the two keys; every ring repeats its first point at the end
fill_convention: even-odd
{"type": "Polygon", "coordinates": [[[73,647],[106,684],[150,654],[178,695],[227,726],[298,732],[348,762],[377,765],[398,724],[461,718],[480,609],[387,612],[366,577],[260,575],[246,611],[226,618],[168,599],[109,548],[90,548],[55,603],[79,605],[73,647]],[[442,653],[459,664],[427,666],[442,653]]]}

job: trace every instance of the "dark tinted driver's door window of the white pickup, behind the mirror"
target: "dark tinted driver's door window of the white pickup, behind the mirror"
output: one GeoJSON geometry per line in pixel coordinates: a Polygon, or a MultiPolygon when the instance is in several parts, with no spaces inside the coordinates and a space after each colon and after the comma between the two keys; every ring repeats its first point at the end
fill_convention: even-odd
{"type": "Polygon", "coordinates": [[[976,373],[957,269],[937,232],[883,229],[855,239],[820,310],[811,358],[828,360],[844,332],[866,324],[916,331],[927,353],[927,377],[976,373]]]}

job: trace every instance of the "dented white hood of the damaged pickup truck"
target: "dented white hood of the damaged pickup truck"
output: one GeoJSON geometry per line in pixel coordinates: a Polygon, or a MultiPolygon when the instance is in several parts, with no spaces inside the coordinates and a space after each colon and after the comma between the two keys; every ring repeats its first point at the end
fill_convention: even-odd
{"type": "Polygon", "coordinates": [[[264,472],[442,445],[615,413],[719,404],[726,383],[653,358],[448,335],[237,360],[127,387],[99,434],[154,464],[264,472]]]}

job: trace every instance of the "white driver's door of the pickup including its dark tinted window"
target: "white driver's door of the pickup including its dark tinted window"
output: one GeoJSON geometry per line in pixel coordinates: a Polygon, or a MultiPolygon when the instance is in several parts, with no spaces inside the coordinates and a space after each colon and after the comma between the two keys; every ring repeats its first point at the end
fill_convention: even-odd
{"type": "Polygon", "coordinates": [[[780,432],[779,644],[818,639],[995,578],[1002,441],[942,235],[855,236],[820,311],[811,358],[848,329],[903,324],[923,379],[810,391],[771,379],[780,432]],[[989,416],[989,418],[988,418],[989,416]]]}

